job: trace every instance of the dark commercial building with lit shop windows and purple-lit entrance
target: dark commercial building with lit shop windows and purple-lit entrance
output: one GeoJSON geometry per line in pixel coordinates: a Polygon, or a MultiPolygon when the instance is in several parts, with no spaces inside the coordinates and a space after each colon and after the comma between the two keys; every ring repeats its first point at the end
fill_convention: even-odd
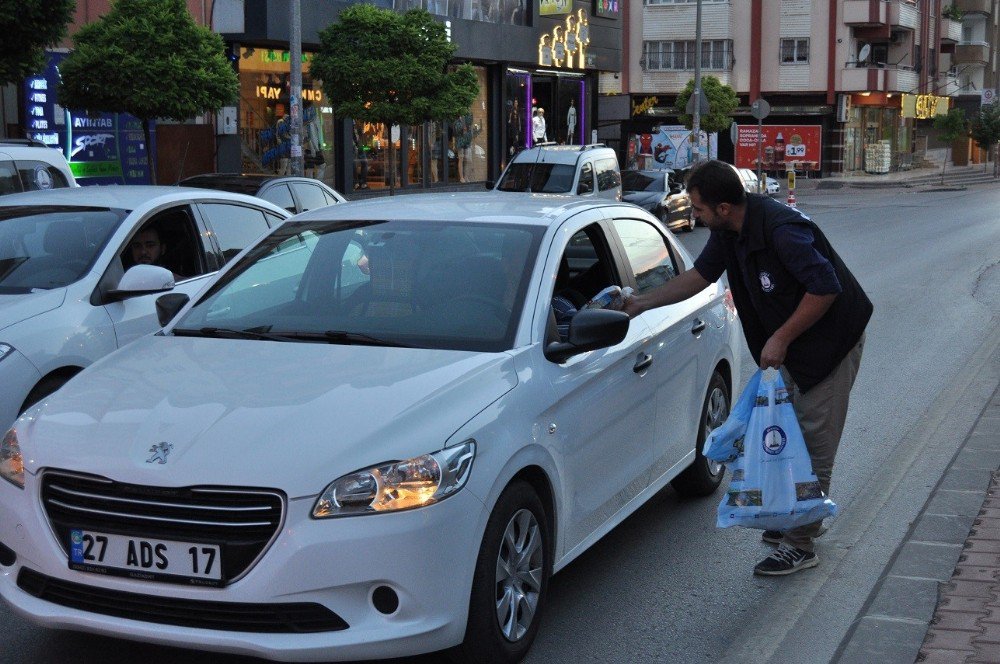
{"type": "MultiPolygon", "coordinates": [[[[479,96],[451,123],[383,126],[337,118],[322,81],[309,74],[319,32],[351,2],[302,0],[303,147],[306,174],[347,192],[430,189],[495,179],[533,143],[532,111],[545,109],[546,136],[589,142],[598,75],[619,71],[621,12],[615,0],[379,0],[423,8],[445,23],[454,64],[471,63],[479,96]],[[390,164],[392,143],[395,163],[390,164]]],[[[286,172],[289,4],[216,2],[213,23],[240,75],[238,106],[220,118],[219,170],[286,172]]]]}

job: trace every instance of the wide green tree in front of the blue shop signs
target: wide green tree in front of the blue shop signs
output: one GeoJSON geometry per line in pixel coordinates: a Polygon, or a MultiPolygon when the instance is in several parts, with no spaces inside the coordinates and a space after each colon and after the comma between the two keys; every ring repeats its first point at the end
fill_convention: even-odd
{"type": "Polygon", "coordinates": [[[239,96],[222,37],[195,23],[184,0],[115,0],[73,36],[59,69],[66,108],[131,113],[142,121],[154,183],[150,122],[218,111],[239,96]]]}

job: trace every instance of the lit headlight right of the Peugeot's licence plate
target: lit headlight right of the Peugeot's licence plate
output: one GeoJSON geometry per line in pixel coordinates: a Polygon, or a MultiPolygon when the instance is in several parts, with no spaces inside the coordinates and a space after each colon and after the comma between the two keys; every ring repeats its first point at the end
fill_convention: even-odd
{"type": "Polygon", "coordinates": [[[325,519],[432,505],[465,486],[475,456],[476,442],[468,440],[432,454],[349,473],[323,490],[313,516],[325,519]]]}

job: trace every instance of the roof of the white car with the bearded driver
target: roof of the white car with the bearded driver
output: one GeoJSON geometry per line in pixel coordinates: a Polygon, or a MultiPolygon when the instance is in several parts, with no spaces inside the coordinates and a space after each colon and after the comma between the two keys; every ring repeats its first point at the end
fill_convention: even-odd
{"type": "MultiPolygon", "coordinates": [[[[199,192],[191,188],[181,189],[179,187],[113,184],[91,187],[65,187],[48,189],[46,191],[7,194],[0,197],[0,205],[80,205],[134,210],[154,199],[162,199],[163,202],[168,203],[187,200],[196,195],[199,195],[199,192]]],[[[205,189],[200,192],[200,196],[203,198],[238,200],[259,207],[266,207],[269,210],[280,209],[259,198],[232,194],[225,191],[205,189]]],[[[288,213],[285,212],[285,214],[287,215],[288,213]]]]}

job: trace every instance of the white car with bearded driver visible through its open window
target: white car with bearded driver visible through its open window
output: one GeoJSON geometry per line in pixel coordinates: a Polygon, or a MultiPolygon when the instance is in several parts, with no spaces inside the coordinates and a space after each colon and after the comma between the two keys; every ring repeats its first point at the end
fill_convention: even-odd
{"type": "Polygon", "coordinates": [[[249,196],[176,187],[0,197],[0,426],[83,367],[158,329],[157,294],[193,295],[288,216],[249,196]],[[148,239],[147,231],[165,247],[159,266],[133,257],[132,243],[148,239]]]}

